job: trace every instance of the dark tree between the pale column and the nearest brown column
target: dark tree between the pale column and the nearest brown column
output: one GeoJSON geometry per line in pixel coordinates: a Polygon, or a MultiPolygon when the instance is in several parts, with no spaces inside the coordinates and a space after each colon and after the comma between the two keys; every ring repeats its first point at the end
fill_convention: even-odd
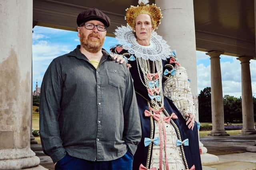
{"type": "Polygon", "coordinates": [[[212,122],[211,88],[201,90],[198,96],[198,113],[200,122],[212,122]]]}

